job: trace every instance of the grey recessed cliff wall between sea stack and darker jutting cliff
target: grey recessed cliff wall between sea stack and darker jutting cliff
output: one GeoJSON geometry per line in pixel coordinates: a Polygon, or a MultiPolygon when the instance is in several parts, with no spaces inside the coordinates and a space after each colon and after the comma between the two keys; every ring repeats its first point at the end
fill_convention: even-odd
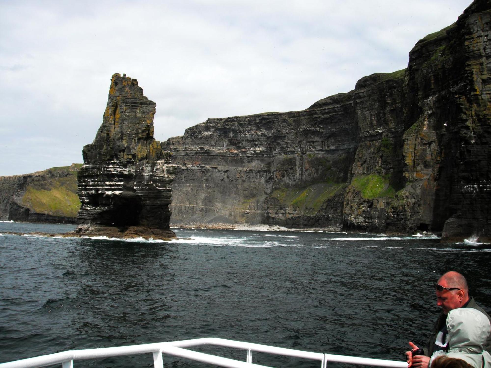
{"type": "MultiPolygon", "coordinates": [[[[348,179],[357,134],[351,111],[343,103],[332,110],[208,119],[170,138],[164,147],[178,165],[174,220],[337,226],[340,208],[329,208],[322,196],[335,194],[348,179]],[[302,185],[301,191],[311,193],[290,205],[302,185]],[[322,206],[325,211],[319,214],[322,206]]],[[[342,203],[342,197],[325,199],[342,203]]]]}

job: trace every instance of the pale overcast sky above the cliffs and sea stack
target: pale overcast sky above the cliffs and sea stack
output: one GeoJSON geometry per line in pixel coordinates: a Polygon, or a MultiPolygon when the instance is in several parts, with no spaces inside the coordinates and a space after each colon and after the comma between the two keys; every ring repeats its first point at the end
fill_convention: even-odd
{"type": "Polygon", "coordinates": [[[302,110],[471,0],[0,1],[0,176],[82,162],[113,73],[157,103],[163,141],[207,118],[302,110]]]}

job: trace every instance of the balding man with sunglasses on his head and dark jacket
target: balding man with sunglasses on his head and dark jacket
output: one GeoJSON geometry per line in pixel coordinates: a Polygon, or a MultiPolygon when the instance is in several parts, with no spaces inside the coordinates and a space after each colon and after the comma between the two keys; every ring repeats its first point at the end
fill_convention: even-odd
{"type": "MultiPolygon", "coordinates": [[[[441,307],[441,313],[436,320],[435,326],[430,335],[426,346],[424,347],[425,355],[412,356],[412,351],[406,351],[406,358],[408,359],[408,367],[413,368],[428,368],[430,357],[437,350],[448,349],[447,341],[447,325],[445,323],[447,314],[453,309],[457,308],[474,308],[484,313],[491,322],[491,317],[479,307],[474,298],[469,296],[469,288],[464,276],[459,272],[449,271],[443,274],[438,282],[435,283],[436,289],[436,305],[441,307]]],[[[418,347],[409,342],[412,350],[418,349],[418,347]]],[[[491,352],[491,335],[488,336],[485,350],[491,352]]]]}

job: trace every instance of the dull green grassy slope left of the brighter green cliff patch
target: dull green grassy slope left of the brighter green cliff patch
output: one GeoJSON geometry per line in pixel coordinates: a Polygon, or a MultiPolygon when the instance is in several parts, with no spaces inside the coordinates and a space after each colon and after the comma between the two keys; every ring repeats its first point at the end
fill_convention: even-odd
{"type": "Polygon", "coordinates": [[[305,214],[316,214],[323,203],[343,190],[344,184],[317,183],[304,188],[281,188],[271,193],[282,207],[297,207],[305,214]]]}

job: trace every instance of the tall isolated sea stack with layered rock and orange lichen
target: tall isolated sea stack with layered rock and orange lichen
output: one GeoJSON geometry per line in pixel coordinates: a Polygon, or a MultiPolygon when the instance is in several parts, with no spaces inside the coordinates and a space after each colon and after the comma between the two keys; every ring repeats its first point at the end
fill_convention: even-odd
{"type": "Polygon", "coordinates": [[[175,167],[153,137],[154,115],[136,79],[112,76],[103,123],[83,148],[80,223],[169,228],[175,167]]]}

